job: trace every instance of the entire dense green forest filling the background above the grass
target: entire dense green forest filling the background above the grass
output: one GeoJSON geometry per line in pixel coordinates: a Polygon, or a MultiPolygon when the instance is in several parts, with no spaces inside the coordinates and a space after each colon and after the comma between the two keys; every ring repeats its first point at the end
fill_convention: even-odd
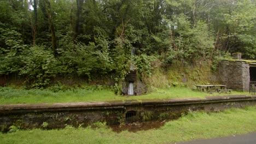
{"type": "Polygon", "coordinates": [[[131,63],[150,74],[153,61],[255,59],[255,11],[254,0],[1,0],[0,75],[31,87],[57,75],[118,85],[131,63]]]}

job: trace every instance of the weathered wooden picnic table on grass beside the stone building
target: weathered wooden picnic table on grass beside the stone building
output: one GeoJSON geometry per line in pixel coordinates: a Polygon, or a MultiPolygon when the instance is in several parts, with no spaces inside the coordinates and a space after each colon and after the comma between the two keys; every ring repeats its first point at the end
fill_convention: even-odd
{"type": "Polygon", "coordinates": [[[220,92],[220,91],[227,91],[226,85],[195,85],[196,89],[199,91],[204,91],[206,89],[206,92],[210,90],[212,93],[214,92],[220,92]]]}

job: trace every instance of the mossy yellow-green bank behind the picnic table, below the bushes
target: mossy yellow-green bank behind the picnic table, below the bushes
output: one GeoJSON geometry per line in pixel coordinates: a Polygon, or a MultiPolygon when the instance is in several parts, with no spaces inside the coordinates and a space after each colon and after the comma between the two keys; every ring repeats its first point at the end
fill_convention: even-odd
{"type": "MultiPolygon", "coordinates": [[[[148,87],[177,87],[193,86],[195,84],[218,83],[214,71],[211,69],[212,62],[196,62],[194,64],[173,63],[168,68],[153,69],[151,75],[142,75],[142,81],[148,87]]],[[[154,67],[154,66],[152,66],[154,67]]]]}

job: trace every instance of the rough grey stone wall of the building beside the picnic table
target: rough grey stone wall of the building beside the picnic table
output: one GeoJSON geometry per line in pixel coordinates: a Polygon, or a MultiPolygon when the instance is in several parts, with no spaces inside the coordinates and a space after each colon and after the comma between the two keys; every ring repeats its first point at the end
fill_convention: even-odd
{"type": "Polygon", "coordinates": [[[219,79],[230,89],[249,90],[249,64],[242,61],[220,61],[219,79]]]}

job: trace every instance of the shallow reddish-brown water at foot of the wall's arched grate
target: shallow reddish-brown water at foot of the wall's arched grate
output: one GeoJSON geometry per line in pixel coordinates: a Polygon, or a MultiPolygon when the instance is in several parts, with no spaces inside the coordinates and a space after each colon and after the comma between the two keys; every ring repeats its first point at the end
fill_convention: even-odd
{"type": "Polygon", "coordinates": [[[135,122],[135,123],[127,123],[125,125],[113,125],[110,128],[120,133],[123,130],[128,130],[130,132],[136,133],[140,130],[149,130],[149,129],[158,129],[165,125],[165,121],[162,122],[135,122]]]}

